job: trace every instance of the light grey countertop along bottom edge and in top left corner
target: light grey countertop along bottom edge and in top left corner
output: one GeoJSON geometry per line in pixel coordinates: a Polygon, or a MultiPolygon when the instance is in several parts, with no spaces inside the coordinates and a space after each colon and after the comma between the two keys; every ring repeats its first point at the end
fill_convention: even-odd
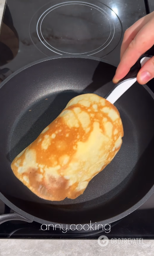
{"type": "MultiPolygon", "coordinates": [[[[0,0],[0,24],[5,0],[0,0]]],[[[0,256],[153,256],[154,240],[101,247],[94,239],[0,239],[0,256]]]]}

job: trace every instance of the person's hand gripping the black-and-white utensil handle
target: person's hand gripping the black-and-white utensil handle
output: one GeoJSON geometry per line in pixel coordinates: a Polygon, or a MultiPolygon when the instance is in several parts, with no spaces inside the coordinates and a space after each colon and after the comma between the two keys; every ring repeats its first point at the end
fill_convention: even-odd
{"type": "MultiPolygon", "coordinates": [[[[121,61],[113,77],[118,83],[137,62],[138,58],[154,45],[154,12],[146,15],[128,28],[123,37],[121,61]]],[[[145,84],[154,78],[154,57],[150,58],[140,69],[137,81],[145,84]]]]}

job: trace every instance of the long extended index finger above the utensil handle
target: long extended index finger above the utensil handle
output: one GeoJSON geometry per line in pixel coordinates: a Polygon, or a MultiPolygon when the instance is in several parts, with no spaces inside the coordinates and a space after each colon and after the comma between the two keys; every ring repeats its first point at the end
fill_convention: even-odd
{"type": "Polygon", "coordinates": [[[117,83],[129,71],[130,68],[137,62],[138,58],[150,49],[154,44],[154,20],[148,22],[135,36],[124,52],[121,62],[117,67],[113,83],[117,83]]]}

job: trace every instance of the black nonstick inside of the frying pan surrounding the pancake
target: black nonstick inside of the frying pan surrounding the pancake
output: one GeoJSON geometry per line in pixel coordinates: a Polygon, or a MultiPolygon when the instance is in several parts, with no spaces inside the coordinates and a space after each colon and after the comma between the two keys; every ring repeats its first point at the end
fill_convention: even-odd
{"type": "Polygon", "coordinates": [[[50,124],[73,97],[113,88],[115,67],[94,58],[41,60],[16,72],[0,88],[0,198],[41,223],[109,223],[140,206],[154,190],[154,99],[135,83],[115,103],[124,137],[113,161],[76,199],[51,202],[35,196],[13,174],[12,160],[50,124]],[[32,215],[32,216],[31,216],[32,215]]]}

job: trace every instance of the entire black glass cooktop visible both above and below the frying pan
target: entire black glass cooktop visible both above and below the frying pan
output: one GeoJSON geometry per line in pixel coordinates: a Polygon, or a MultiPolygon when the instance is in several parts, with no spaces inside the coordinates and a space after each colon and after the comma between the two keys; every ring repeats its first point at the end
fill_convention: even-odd
{"type": "MultiPolygon", "coordinates": [[[[93,56],[117,66],[124,31],[153,6],[154,0],[7,0],[0,32],[0,83],[19,68],[54,55],[93,56]]],[[[0,201],[0,214],[10,212],[0,201]]],[[[0,238],[154,239],[153,217],[154,195],[104,231],[43,230],[40,223],[9,221],[0,225],[0,238]]]]}

